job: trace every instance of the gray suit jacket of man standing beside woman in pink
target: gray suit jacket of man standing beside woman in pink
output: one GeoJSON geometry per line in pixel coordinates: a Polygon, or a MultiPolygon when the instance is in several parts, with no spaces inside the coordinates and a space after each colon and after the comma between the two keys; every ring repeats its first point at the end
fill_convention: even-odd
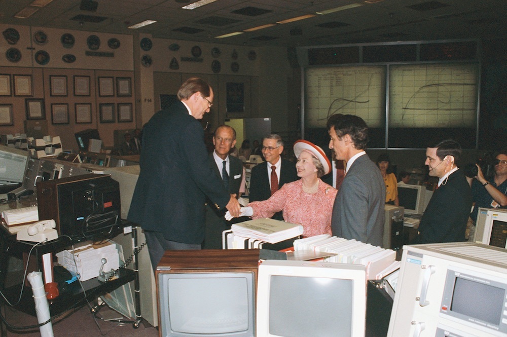
{"type": "Polygon", "coordinates": [[[333,235],[382,245],[385,184],[368,155],[357,158],[347,170],[333,206],[333,235]]]}

